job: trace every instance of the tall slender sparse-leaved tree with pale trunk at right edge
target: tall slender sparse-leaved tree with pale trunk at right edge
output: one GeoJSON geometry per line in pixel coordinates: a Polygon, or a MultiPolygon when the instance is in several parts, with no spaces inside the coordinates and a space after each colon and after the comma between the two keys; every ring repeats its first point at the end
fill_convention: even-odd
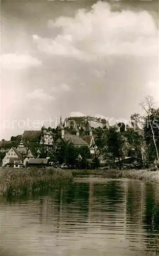
{"type": "Polygon", "coordinates": [[[159,165],[158,149],[156,145],[156,138],[155,138],[155,131],[154,131],[154,128],[158,130],[158,123],[155,123],[155,119],[154,119],[155,114],[158,112],[158,110],[155,109],[155,103],[151,96],[145,97],[140,104],[143,110],[146,112],[146,117],[145,117],[146,125],[147,127],[150,127],[152,140],[153,140],[153,144],[156,152],[157,164],[159,165]],[[154,126],[154,123],[156,126],[154,126]]]}

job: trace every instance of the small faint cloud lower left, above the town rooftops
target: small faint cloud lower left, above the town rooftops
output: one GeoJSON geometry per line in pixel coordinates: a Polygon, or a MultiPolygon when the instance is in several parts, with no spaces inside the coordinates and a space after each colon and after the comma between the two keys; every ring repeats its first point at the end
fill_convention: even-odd
{"type": "Polygon", "coordinates": [[[42,100],[42,101],[48,101],[48,100],[54,100],[55,98],[43,91],[43,89],[35,89],[31,93],[27,94],[27,98],[34,100],[42,100]]]}

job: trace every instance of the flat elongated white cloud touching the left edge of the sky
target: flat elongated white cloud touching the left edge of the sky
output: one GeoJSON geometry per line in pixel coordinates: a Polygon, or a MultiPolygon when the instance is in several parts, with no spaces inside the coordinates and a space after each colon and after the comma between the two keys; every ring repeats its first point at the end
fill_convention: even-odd
{"type": "Polygon", "coordinates": [[[1,56],[1,66],[9,70],[21,70],[41,66],[41,61],[26,54],[8,53],[1,56]]]}

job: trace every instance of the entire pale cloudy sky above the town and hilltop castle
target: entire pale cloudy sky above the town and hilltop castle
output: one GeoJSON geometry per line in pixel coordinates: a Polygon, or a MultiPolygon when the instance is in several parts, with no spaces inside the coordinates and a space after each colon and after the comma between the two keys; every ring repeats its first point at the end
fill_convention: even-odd
{"type": "Polygon", "coordinates": [[[1,139],[159,101],[158,1],[3,0],[1,139]]]}

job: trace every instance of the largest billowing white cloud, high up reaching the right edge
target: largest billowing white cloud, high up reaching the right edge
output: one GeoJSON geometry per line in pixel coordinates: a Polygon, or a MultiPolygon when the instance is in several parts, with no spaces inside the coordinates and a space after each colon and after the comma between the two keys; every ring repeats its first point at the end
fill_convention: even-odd
{"type": "Polygon", "coordinates": [[[33,35],[40,51],[52,55],[94,60],[108,55],[157,56],[157,28],[147,11],[112,12],[98,2],[92,10],[80,9],[74,17],[50,20],[60,28],[55,38],[33,35]]]}

